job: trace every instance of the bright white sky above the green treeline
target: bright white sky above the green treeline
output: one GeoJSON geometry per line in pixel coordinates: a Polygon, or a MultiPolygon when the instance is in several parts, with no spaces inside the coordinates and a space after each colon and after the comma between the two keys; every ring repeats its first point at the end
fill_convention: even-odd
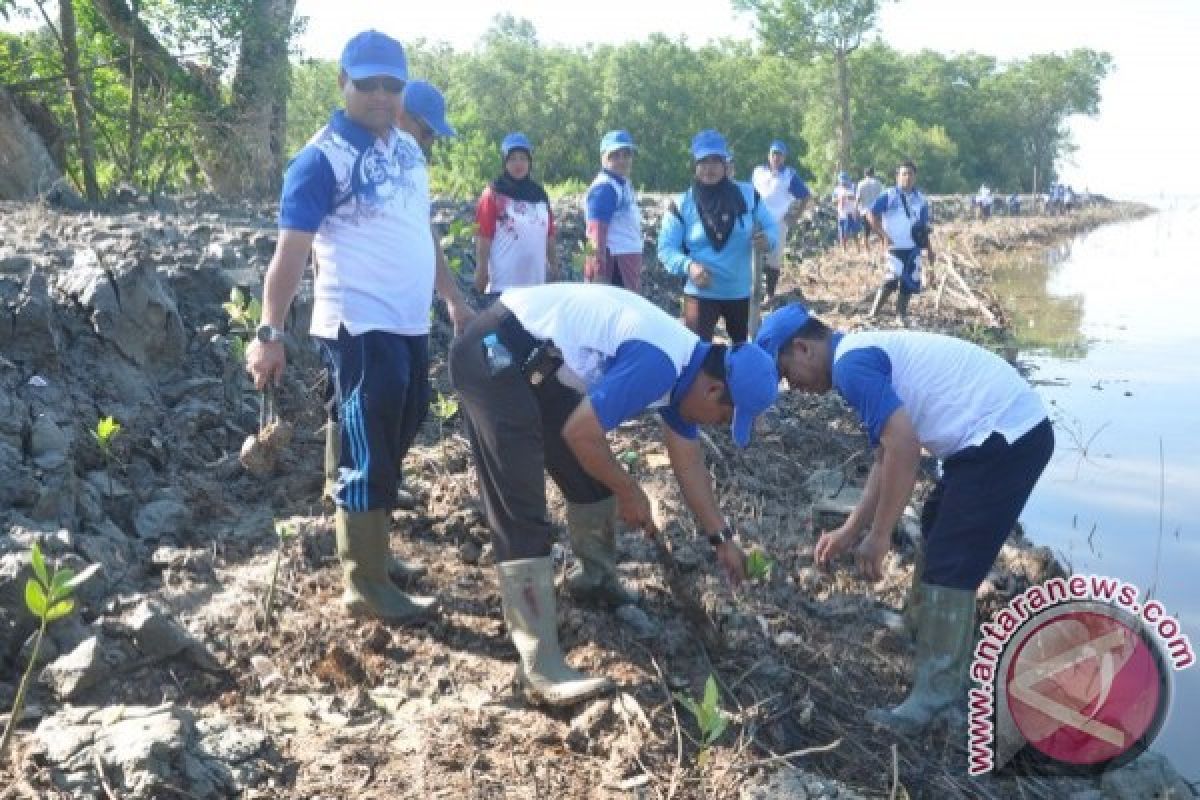
{"type": "MultiPolygon", "coordinates": [[[[728,0],[380,6],[376,0],[299,0],[296,13],[310,19],[301,52],[336,59],[346,40],[366,28],[402,42],[424,37],[469,48],[502,11],[533,22],[546,44],[618,43],[655,31],[697,44],[754,36],[750,17],[734,14],[728,0]],[[599,11],[589,16],[590,10],[599,11]]],[[[1121,197],[1200,192],[1200,160],[1192,151],[1200,110],[1186,58],[1200,42],[1200,0],[898,0],[884,5],[878,35],[905,52],[974,50],[1002,60],[1075,47],[1108,50],[1115,70],[1102,85],[1100,113],[1072,121],[1079,150],[1060,172],[1076,187],[1121,197]]]]}

